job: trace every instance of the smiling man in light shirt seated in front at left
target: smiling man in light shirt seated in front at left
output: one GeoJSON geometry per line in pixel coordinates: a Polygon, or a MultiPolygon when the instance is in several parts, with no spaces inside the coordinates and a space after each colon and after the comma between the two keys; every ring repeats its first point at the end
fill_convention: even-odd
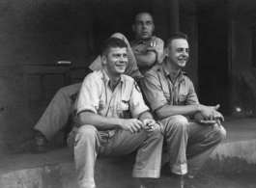
{"type": "Polygon", "coordinates": [[[123,73],[128,64],[127,44],[109,38],[100,47],[102,68],[86,76],[77,98],[76,125],[68,143],[81,188],[94,188],[98,155],[137,151],[134,177],[159,177],[163,137],[135,81],[123,73]],[[130,112],[133,119],[124,119],[130,112]]]}

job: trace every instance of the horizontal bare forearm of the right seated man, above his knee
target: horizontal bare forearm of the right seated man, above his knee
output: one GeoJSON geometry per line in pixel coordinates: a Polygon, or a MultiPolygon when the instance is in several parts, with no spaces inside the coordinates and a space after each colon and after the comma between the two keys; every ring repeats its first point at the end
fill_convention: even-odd
{"type": "Polygon", "coordinates": [[[187,105],[187,106],[175,106],[175,105],[165,105],[158,110],[156,110],[156,115],[159,119],[166,119],[170,116],[183,115],[194,117],[195,114],[199,113],[201,110],[200,104],[187,105]]]}

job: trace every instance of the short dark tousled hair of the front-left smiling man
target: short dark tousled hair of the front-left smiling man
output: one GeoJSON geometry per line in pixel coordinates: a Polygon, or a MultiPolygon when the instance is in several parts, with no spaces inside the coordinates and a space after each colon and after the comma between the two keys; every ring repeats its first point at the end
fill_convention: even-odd
{"type": "Polygon", "coordinates": [[[108,38],[103,40],[100,45],[100,55],[106,55],[111,47],[128,48],[128,44],[124,40],[118,38],[108,38]]]}

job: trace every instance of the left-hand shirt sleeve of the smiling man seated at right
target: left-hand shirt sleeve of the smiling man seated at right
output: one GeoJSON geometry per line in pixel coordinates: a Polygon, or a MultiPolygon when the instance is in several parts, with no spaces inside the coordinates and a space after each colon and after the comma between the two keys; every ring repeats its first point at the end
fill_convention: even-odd
{"type": "Polygon", "coordinates": [[[141,80],[141,86],[151,105],[151,110],[153,113],[168,103],[161,90],[160,82],[156,76],[148,73],[145,74],[141,80]]]}

